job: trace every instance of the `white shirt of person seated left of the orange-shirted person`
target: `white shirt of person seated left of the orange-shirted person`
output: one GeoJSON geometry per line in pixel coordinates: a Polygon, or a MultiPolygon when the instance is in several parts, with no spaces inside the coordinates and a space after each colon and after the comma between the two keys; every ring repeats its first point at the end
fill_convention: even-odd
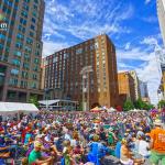
{"type": "Polygon", "coordinates": [[[150,144],[141,140],[139,142],[139,154],[141,154],[142,156],[148,156],[150,155],[150,151],[147,151],[148,147],[150,147],[150,144]]]}

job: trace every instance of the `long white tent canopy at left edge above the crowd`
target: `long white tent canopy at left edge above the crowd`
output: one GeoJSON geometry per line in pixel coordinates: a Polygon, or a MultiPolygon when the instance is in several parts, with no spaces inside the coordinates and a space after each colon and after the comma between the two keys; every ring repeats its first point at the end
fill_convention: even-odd
{"type": "Polygon", "coordinates": [[[33,103],[21,103],[21,102],[0,102],[0,114],[1,113],[16,113],[16,112],[37,112],[38,109],[33,103]]]}

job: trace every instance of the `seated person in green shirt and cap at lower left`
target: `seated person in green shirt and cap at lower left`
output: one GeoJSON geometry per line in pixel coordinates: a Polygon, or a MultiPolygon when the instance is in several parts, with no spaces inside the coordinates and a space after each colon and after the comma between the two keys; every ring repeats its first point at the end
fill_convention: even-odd
{"type": "Polygon", "coordinates": [[[29,155],[29,165],[40,164],[48,165],[52,162],[52,157],[42,156],[42,143],[40,141],[34,142],[34,150],[29,155]]]}

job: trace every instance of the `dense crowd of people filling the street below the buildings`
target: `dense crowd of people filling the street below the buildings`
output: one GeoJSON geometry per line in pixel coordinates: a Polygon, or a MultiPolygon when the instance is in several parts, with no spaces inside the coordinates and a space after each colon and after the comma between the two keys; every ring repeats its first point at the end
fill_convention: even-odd
{"type": "Polygon", "coordinates": [[[165,165],[165,130],[143,112],[22,114],[0,123],[0,165],[101,165],[107,155],[123,165],[165,165]]]}

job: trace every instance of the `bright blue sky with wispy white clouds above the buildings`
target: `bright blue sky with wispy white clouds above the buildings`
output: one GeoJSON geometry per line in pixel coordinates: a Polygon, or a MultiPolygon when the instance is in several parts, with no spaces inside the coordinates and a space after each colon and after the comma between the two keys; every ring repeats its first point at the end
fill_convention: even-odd
{"type": "Polygon", "coordinates": [[[43,57],[101,33],[117,50],[118,72],[136,70],[156,103],[161,73],[155,45],[162,46],[156,0],[45,0],[43,57]]]}

